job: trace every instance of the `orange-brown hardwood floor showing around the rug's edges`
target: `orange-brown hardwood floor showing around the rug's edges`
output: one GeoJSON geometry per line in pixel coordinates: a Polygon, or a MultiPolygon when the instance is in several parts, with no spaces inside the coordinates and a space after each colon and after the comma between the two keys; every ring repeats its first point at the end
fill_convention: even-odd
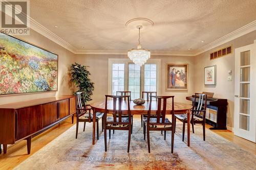
{"type": "MultiPolygon", "coordinates": [[[[140,115],[136,115],[136,118],[140,119],[140,115]]],[[[47,143],[54,140],[60,134],[65,132],[67,129],[72,127],[71,118],[67,119],[65,122],[56,125],[55,127],[49,129],[48,131],[32,138],[31,154],[27,155],[27,143],[26,141],[18,142],[8,148],[7,154],[0,155],[0,167],[1,169],[12,169],[19,163],[23,162],[31,155],[36,153],[38,150],[43,148],[47,143]]],[[[207,125],[206,128],[209,129],[211,126],[207,125]]],[[[256,155],[256,144],[250,142],[246,139],[235,136],[231,131],[228,130],[211,130],[216,134],[226,138],[227,140],[236,143],[239,147],[247,150],[248,152],[256,155]]],[[[191,134],[193,135],[193,134],[191,134]]]]}

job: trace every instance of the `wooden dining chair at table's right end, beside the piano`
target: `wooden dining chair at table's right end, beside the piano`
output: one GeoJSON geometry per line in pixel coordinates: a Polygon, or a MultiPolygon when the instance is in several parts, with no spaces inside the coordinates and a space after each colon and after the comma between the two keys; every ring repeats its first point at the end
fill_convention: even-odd
{"type": "MultiPolygon", "coordinates": [[[[205,114],[206,114],[207,94],[195,93],[195,99],[193,102],[193,108],[191,110],[190,123],[192,125],[193,133],[194,125],[203,125],[203,139],[205,141],[205,114]]],[[[185,124],[187,123],[187,114],[175,114],[175,129],[176,129],[176,118],[183,123],[182,128],[182,141],[184,141],[185,124]]]]}

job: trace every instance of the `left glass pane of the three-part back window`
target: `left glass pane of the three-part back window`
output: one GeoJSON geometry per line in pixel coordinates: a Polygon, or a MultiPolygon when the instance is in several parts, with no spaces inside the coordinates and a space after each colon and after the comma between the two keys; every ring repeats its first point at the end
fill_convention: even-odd
{"type": "Polygon", "coordinates": [[[112,95],[124,91],[124,64],[112,65],[112,95]]]}

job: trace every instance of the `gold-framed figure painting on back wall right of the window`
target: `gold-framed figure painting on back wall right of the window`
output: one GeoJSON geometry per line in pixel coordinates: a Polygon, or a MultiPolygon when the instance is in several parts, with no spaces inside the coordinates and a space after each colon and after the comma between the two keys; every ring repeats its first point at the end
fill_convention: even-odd
{"type": "Polygon", "coordinates": [[[188,64],[167,64],[167,90],[187,90],[188,64]]]}

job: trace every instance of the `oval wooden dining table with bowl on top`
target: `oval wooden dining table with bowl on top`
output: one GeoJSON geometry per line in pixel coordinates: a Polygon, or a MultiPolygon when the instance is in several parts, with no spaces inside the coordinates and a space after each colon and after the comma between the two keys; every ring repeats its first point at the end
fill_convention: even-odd
{"type": "MultiPolygon", "coordinates": [[[[122,101],[122,113],[127,113],[128,107],[127,102],[130,102],[131,114],[147,114],[148,108],[150,106],[150,102],[145,101],[143,105],[136,105],[133,101],[122,101]]],[[[107,103],[108,112],[113,113],[113,101],[110,100],[107,103]]],[[[105,101],[95,102],[90,104],[93,110],[93,144],[95,144],[95,126],[96,126],[96,112],[104,112],[105,111],[105,101]]],[[[192,105],[184,104],[184,103],[174,103],[174,113],[175,114],[187,114],[187,146],[190,144],[190,111],[192,109],[192,105]]],[[[151,105],[152,113],[157,111],[157,102],[152,101],[151,105]]],[[[167,101],[166,105],[166,114],[171,114],[172,111],[172,102],[167,101]]]]}

